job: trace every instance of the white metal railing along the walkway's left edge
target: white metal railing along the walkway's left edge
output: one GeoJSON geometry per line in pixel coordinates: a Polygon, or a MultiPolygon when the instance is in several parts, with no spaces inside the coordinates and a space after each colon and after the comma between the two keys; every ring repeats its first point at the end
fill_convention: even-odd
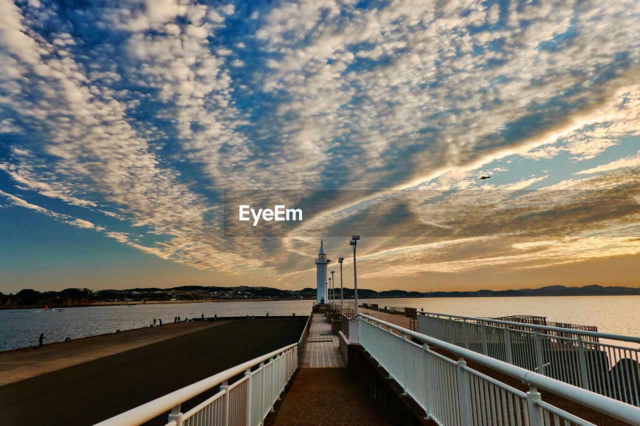
{"type": "Polygon", "coordinates": [[[310,327],[307,321],[298,343],[285,346],[259,358],[236,365],[164,397],[125,411],[95,426],[140,425],[171,410],[165,426],[262,425],[273,411],[280,393],[300,365],[300,356],[310,327]],[[235,383],[228,380],[244,372],[235,383]],[[180,405],[220,385],[220,391],[186,413],[180,405]]]}

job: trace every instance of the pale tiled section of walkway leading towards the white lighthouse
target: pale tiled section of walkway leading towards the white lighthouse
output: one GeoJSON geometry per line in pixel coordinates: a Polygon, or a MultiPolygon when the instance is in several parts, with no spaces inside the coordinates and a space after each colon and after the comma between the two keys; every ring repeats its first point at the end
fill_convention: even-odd
{"type": "Polygon", "coordinates": [[[331,325],[324,315],[312,313],[311,327],[301,368],[346,367],[338,347],[338,336],[332,335],[331,325]]]}

